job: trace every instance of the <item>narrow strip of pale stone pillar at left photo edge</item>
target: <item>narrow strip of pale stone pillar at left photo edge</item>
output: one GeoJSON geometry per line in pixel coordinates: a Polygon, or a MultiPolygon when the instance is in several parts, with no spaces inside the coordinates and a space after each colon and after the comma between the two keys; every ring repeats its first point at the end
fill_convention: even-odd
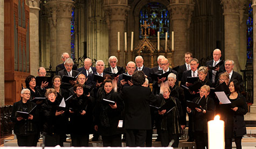
{"type": "Polygon", "coordinates": [[[4,1],[0,1],[0,106],[4,106],[4,1]]]}

